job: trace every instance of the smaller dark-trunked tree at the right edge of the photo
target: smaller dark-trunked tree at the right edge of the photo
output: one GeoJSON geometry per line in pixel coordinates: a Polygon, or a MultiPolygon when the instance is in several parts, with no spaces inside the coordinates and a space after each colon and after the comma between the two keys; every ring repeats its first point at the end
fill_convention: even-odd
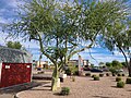
{"type": "MultiPolygon", "coordinates": [[[[129,27],[129,25],[128,25],[129,27]]],[[[114,28],[109,28],[109,34],[105,36],[105,46],[110,50],[120,51],[124,59],[129,70],[129,76],[131,76],[131,33],[130,27],[127,28],[124,24],[116,23],[114,28]],[[129,60],[128,60],[129,59],[129,60]]]]}

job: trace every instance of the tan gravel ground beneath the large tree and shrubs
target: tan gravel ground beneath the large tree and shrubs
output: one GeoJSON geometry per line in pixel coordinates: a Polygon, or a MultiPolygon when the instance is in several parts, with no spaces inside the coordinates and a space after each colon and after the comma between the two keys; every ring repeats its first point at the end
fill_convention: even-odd
{"type": "MultiPolygon", "coordinates": [[[[50,84],[34,87],[29,90],[17,94],[19,98],[131,98],[131,85],[126,84],[124,88],[116,87],[116,77],[104,76],[100,81],[93,81],[92,77],[75,77],[72,82],[70,77],[61,83],[61,87],[70,87],[69,96],[57,95],[50,90],[50,84]]],[[[122,77],[126,81],[126,77],[122,77]]]]}

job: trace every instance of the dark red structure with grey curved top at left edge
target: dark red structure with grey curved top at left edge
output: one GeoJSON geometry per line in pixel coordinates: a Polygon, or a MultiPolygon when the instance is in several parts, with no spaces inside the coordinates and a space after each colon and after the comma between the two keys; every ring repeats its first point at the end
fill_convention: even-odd
{"type": "Polygon", "coordinates": [[[32,81],[32,54],[0,47],[0,88],[32,81]]]}

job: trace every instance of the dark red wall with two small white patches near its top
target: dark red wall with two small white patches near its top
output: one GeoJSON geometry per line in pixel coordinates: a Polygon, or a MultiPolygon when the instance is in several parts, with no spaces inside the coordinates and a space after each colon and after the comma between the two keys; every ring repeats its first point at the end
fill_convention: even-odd
{"type": "Polygon", "coordinates": [[[31,82],[32,63],[2,63],[1,87],[31,82]]]}

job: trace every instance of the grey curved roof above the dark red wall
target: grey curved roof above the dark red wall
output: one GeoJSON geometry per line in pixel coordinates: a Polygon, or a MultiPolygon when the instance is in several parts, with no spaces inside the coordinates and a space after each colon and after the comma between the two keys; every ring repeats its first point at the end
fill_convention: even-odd
{"type": "Polygon", "coordinates": [[[28,63],[31,58],[32,54],[25,50],[0,46],[0,62],[28,63]]]}

